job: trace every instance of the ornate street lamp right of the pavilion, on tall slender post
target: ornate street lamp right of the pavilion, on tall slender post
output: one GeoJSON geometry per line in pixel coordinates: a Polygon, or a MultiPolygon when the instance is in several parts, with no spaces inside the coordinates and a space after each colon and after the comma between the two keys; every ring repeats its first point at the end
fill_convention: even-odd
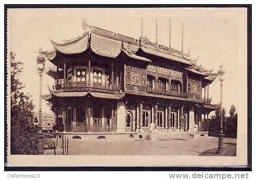
{"type": "Polygon", "coordinates": [[[224,143],[223,143],[223,112],[222,112],[222,82],[224,81],[223,74],[225,71],[223,70],[223,65],[220,65],[220,69],[218,71],[219,74],[219,81],[220,81],[220,132],[219,132],[219,145],[218,145],[218,150],[217,154],[221,154],[224,151],[224,143]]]}

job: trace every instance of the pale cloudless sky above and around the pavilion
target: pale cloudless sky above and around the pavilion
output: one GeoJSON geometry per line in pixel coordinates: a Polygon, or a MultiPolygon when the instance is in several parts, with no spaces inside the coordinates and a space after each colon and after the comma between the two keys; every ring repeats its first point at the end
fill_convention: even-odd
{"type": "MultiPolygon", "coordinates": [[[[228,113],[231,104],[238,103],[238,13],[236,8],[126,8],[126,9],[11,9],[8,10],[8,50],[23,62],[19,79],[29,93],[34,111],[39,110],[39,74],[36,56],[39,48],[53,50],[50,39],[78,37],[84,32],[83,19],[90,25],[114,31],[129,37],[143,35],[152,42],[156,40],[156,18],[158,19],[158,44],[169,46],[169,18],[171,18],[171,47],[181,50],[182,23],[184,23],[184,52],[190,50],[192,59],[199,56],[197,65],[217,72],[222,63],[226,73],[223,81],[223,107],[228,113]]],[[[246,59],[245,59],[246,61],[246,59]]],[[[46,62],[46,70],[48,62],[46,62]]],[[[42,94],[48,94],[47,85],[54,80],[45,72],[42,79],[42,94]]],[[[220,81],[210,85],[212,104],[220,102],[220,81]]],[[[237,112],[239,111],[238,108],[237,112]]],[[[51,113],[42,101],[42,111],[51,113]]]]}

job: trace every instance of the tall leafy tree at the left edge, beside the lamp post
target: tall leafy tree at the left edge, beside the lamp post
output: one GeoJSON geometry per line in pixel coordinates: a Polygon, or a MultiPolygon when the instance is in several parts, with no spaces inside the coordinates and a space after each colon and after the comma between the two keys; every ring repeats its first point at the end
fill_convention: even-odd
{"type": "Polygon", "coordinates": [[[11,154],[36,155],[38,128],[33,123],[33,102],[20,92],[24,87],[18,79],[22,65],[11,52],[11,154]]]}

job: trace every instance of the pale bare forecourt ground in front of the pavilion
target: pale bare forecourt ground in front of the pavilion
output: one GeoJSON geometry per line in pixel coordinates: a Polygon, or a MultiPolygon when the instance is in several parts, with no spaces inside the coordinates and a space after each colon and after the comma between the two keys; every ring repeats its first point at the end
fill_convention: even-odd
{"type": "MultiPolygon", "coordinates": [[[[58,140],[56,147],[56,155],[61,155],[61,140],[58,140]]],[[[99,139],[93,142],[73,139],[69,140],[68,155],[217,155],[217,147],[217,137],[155,141],[99,139]]],[[[222,155],[236,156],[236,139],[224,138],[224,149],[222,155]]],[[[53,149],[47,149],[44,154],[53,155],[53,152],[53,149]]]]}

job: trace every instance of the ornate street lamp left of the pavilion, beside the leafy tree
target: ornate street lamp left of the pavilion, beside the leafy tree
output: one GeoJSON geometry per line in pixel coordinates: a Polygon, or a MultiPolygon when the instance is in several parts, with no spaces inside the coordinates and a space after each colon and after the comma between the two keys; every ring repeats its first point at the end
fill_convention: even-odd
{"type": "Polygon", "coordinates": [[[38,155],[44,154],[43,134],[42,134],[42,73],[45,70],[45,57],[43,50],[40,48],[37,60],[37,71],[39,73],[39,129],[38,129],[38,155]]]}

